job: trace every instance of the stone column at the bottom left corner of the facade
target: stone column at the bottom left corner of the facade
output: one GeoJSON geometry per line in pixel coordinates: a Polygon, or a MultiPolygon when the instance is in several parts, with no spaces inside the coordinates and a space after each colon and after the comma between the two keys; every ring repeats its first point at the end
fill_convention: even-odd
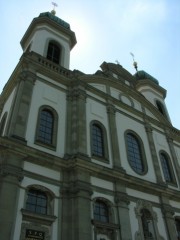
{"type": "Polygon", "coordinates": [[[17,215],[19,182],[23,179],[21,160],[6,150],[0,151],[0,233],[10,240],[17,215]]]}

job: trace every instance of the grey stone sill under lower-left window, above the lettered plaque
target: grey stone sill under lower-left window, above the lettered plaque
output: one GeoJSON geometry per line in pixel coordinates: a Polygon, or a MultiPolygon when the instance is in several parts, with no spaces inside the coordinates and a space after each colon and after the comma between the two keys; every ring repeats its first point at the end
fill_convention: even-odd
{"type": "Polygon", "coordinates": [[[21,209],[23,220],[29,222],[38,222],[40,224],[45,224],[51,226],[52,223],[56,220],[56,216],[53,215],[46,215],[46,214],[38,214],[34,212],[30,212],[26,209],[21,209]]]}

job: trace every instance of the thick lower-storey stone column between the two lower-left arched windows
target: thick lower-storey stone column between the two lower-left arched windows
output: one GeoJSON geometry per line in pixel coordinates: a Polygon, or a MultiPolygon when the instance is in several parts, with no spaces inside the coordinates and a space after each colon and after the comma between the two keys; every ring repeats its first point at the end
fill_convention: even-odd
{"type": "Polygon", "coordinates": [[[82,169],[65,174],[68,181],[62,192],[62,239],[92,240],[90,175],[82,169]]]}

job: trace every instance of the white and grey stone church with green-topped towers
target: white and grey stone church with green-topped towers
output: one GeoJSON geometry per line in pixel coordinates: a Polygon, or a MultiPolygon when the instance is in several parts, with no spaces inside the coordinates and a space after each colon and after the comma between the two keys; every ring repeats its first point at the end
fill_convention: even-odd
{"type": "Polygon", "coordinates": [[[76,35],[54,10],[20,44],[0,95],[0,239],[180,239],[180,130],[159,81],[70,70],[76,35]]]}

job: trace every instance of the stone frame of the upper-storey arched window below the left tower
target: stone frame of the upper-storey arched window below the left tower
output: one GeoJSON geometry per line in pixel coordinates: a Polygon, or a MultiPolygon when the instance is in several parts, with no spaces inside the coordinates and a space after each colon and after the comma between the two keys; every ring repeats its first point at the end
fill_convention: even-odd
{"type": "Polygon", "coordinates": [[[55,109],[53,109],[50,106],[43,105],[39,108],[38,111],[38,117],[37,117],[37,124],[36,124],[36,134],[35,134],[35,144],[41,145],[43,147],[47,147],[51,150],[56,149],[57,145],[57,132],[58,132],[58,114],[55,109]],[[40,125],[41,125],[41,113],[42,111],[47,110],[47,112],[50,112],[53,116],[53,129],[52,129],[52,140],[51,143],[47,143],[45,141],[42,141],[39,139],[39,131],[40,131],[40,125]]]}

